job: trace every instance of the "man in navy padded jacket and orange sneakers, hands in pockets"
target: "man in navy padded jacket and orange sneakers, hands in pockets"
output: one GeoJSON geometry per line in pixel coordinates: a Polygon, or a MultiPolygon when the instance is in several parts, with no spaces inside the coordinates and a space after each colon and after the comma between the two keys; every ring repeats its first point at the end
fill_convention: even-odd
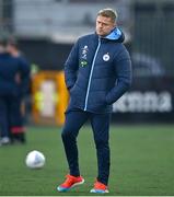
{"type": "Polygon", "coordinates": [[[96,18],[95,34],[80,37],[65,65],[70,103],[61,137],[70,174],[57,187],[59,192],[67,192],[84,183],[79,170],[77,136],[82,125],[90,119],[98,170],[91,193],[108,193],[112,104],[131,84],[130,57],[123,45],[124,34],[116,26],[116,19],[114,10],[101,10],[96,18]]]}

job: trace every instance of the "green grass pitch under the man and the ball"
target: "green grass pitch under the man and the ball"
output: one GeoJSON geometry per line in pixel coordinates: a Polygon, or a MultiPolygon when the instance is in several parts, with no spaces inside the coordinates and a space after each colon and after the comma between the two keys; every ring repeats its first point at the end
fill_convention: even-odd
{"type": "MultiPolygon", "coordinates": [[[[27,143],[0,147],[0,195],[88,196],[96,176],[95,147],[90,126],[80,130],[78,144],[85,183],[71,192],[56,190],[68,173],[57,127],[28,127],[27,143]],[[25,166],[28,151],[46,155],[42,170],[25,166]]],[[[174,126],[141,125],[111,127],[112,196],[174,195],[174,126]]],[[[92,195],[96,196],[96,195],[92,195]]]]}

